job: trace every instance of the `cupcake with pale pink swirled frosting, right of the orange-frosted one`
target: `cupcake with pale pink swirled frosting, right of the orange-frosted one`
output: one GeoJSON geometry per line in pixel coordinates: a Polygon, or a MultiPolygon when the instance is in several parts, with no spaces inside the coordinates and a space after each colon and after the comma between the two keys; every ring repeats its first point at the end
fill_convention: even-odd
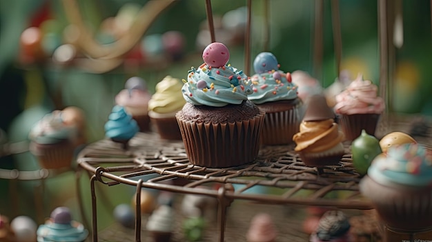
{"type": "Polygon", "coordinates": [[[377,97],[377,85],[364,81],[362,74],[336,96],[335,112],[348,141],[359,137],[362,130],[375,134],[380,114],[384,112],[384,99],[377,97]]]}

